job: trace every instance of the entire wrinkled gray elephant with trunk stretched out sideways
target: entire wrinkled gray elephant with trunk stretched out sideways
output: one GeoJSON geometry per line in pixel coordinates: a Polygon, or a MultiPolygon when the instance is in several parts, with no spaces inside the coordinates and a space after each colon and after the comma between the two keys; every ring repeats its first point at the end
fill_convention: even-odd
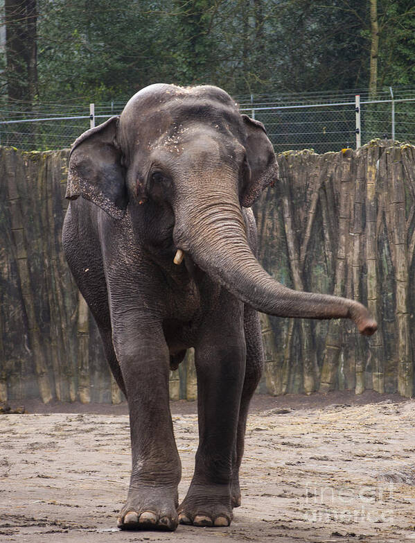
{"type": "Polygon", "coordinates": [[[152,85],[73,146],[64,251],[130,409],[121,528],[227,526],[249,400],[263,367],[256,310],[376,322],[361,304],[295,292],[256,260],[249,207],[277,178],[263,125],[217,87],[152,85]],[[83,198],[78,198],[82,196],[83,198]],[[177,249],[182,264],[173,264],[177,249]],[[195,347],[200,443],[179,505],[168,375],[195,347]]]}

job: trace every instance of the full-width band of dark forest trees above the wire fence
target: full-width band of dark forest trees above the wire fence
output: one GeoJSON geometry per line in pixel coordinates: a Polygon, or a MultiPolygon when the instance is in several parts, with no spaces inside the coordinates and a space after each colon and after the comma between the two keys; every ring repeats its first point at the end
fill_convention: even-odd
{"type": "Polygon", "coordinates": [[[9,105],[415,85],[413,0],[3,0],[9,105]]]}

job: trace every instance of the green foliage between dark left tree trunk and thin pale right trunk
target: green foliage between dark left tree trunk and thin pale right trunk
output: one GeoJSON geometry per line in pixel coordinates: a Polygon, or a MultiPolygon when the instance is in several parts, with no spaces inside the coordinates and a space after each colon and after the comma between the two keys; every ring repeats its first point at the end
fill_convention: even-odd
{"type": "Polygon", "coordinates": [[[302,92],[367,75],[357,0],[348,11],[339,0],[39,1],[44,100],[109,100],[157,81],[302,92]]]}

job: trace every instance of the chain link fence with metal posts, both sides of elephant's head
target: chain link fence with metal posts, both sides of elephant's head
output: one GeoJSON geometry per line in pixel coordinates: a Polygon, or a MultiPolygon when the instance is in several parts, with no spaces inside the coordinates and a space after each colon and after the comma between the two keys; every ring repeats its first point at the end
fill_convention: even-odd
{"type": "MultiPolygon", "coordinates": [[[[317,153],[356,147],[374,138],[415,143],[415,87],[360,92],[238,96],[241,112],[262,121],[276,150],[317,153]],[[358,110],[358,115],[356,114],[358,110]],[[359,118],[357,120],[357,118],[359,118]]],[[[60,149],[92,124],[120,114],[126,101],[91,105],[39,104],[0,110],[0,144],[23,150],[60,149]]]]}

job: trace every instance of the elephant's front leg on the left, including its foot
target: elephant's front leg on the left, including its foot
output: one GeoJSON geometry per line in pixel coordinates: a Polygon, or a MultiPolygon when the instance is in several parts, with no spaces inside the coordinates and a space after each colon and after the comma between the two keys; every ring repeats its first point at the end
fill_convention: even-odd
{"type": "Polygon", "coordinates": [[[122,529],[177,528],[181,477],[168,397],[168,347],[158,323],[151,329],[123,327],[114,347],[130,410],[132,473],[122,529]]]}

